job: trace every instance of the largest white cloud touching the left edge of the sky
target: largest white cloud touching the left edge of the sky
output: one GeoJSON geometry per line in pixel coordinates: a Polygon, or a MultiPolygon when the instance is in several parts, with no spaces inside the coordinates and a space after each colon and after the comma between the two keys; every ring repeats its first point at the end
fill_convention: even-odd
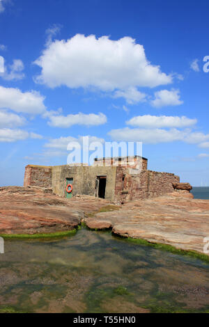
{"type": "Polygon", "coordinates": [[[45,97],[31,90],[23,93],[18,88],[0,86],[0,109],[11,109],[16,112],[38,114],[45,111],[45,97]]]}

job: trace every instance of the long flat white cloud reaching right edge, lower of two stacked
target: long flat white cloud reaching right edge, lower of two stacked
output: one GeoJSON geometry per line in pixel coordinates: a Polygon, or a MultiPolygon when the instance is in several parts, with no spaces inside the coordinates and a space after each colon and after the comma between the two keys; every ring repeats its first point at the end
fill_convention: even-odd
{"type": "Polygon", "coordinates": [[[132,141],[149,144],[169,143],[174,141],[183,141],[190,144],[198,144],[201,140],[209,139],[209,134],[193,132],[190,129],[180,130],[176,128],[134,128],[125,127],[122,129],[112,129],[109,136],[114,141],[132,141]]]}

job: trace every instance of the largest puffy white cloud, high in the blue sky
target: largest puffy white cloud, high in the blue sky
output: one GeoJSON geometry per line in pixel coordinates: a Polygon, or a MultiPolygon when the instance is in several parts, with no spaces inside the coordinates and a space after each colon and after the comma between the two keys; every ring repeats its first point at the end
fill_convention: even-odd
{"type": "Polygon", "coordinates": [[[144,47],[130,37],[109,40],[77,34],[69,40],[55,40],[35,63],[42,69],[36,81],[50,88],[65,85],[114,91],[172,82],[171,75],[152,65],[144,47]]]}

